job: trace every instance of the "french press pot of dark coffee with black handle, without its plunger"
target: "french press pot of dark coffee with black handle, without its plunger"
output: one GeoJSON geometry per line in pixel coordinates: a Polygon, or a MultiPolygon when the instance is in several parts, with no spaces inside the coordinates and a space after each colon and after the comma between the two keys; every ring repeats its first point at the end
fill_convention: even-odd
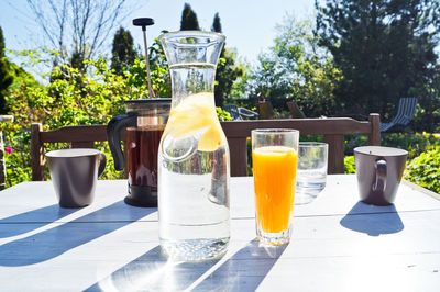
{"type": "Polygon", "coordinates": [[[129,194],[125,203],[135,206],[157,206],[157,151],[168,120],[170,99],[125,101],[127,114],[111,119],[107,136],[114,168],[125,168],[129,194]],[[127,131],[125,154],[121,134],[127,131]]]}

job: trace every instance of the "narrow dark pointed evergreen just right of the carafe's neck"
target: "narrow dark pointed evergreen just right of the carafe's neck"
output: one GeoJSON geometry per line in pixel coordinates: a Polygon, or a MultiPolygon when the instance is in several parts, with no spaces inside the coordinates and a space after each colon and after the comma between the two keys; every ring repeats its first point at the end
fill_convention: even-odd
{"type": "MultiPolygon", "coordinates": [[[[211,31],[221,33],[219,13],[216,13],[213,18],[211,31]]],[[[244,69],[235,65],[235,59],[237,54],[223,46],[216,71],[215,99],[217,106],[223,105],[223,101],[228,99],[232,91],[234,81],[243,76],[244,69]]]]}

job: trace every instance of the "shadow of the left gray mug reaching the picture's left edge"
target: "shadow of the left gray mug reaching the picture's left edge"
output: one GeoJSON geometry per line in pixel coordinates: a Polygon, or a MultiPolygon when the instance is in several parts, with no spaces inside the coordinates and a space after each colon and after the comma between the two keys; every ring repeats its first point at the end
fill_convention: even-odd
{"type": "Polygon", "coordinates": [[[24,234],[57,220],[61,220],[79,209],[64,209],[58,204],[44,206],[0,220],[0,238],[24,234]]]}

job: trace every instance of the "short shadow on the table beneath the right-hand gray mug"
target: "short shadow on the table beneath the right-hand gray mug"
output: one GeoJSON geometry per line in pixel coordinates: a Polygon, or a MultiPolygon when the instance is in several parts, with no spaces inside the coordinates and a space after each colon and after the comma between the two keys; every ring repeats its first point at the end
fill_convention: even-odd
{"type": "Polygon", "coordinates": [[[362,202],[358,202],[340,224],[345,228],[370,236],[398,233],[405,227],[394,204],[375,206],[362,202]]]}

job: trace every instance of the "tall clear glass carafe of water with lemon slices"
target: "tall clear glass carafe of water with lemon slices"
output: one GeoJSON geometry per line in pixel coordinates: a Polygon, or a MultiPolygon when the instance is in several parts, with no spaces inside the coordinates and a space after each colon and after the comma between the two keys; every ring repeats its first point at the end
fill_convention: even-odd
{"type": "Polygon", "coordinates": [[[230,238],[229,148],[213,99],[224,36],[183,31],[160,40],[173,86],[158,151],[161,246],[176,260],[216,258],[230,238]]]}

